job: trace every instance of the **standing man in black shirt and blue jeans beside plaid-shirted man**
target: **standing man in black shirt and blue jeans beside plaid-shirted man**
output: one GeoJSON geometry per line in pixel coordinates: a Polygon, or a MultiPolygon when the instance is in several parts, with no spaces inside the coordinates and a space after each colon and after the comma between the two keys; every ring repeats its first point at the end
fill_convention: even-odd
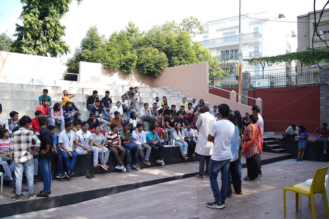
{"type": "MultiPolygon", "coordinates": [[[[39,148],[39,167],[41,175],[43,177],[43,190],[37,194],[38,197],[48,197],[51,192],[51,158],[52,155],[52,134],[49,129],[46,128],[46,118],[41,117],[39,120],[40,126],[40,148],[39,148]]],[[[18,187],[18,186],[16,186],[18,187]]],[[[18,187],[19,188],[19,187],[18,187]]]]}

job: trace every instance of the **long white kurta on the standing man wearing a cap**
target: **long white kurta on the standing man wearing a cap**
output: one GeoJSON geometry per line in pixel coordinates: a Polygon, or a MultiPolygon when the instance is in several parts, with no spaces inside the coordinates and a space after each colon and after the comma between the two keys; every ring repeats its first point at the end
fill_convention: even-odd
{"type": "Polygon", "coordinates": [[[213,142],[208,142],[208,134],[211,126],[216,121],[215,117],[209,112],[201,113],[196,122],[196,126],[200,127],[200,132],[198,140],[195,146],[195,153],[209,156],[213,154],[214,144],[213,142]]]}

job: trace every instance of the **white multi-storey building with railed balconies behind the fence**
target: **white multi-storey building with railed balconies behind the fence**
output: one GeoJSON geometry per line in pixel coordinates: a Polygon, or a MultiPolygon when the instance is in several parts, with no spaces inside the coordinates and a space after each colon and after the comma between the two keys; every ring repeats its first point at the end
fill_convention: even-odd
{"type": "MultiPolygon", "coordinates": [[[[292,31],[296,33],[297,24],[277,22],[292,20],[287,17],[273,17],[268,12],[241,15],[243,59],[282,55],[296,51],[297,39],[291,37],[291,33],[292,31]]],[[[222,60],[220,63],[224,71],[229,71],[230,75],[237,75],[239,16],[209,21],[203,27],[205,33],[196,32],[193,41],[199,41],[203,48],[209,48],[213,55],[218,55],[218,59],[222,60]]],[[[261,65],[250,65],[244,61],[243,68],[244,71],[250,72],[251,76],[263,75],[261,65]]],[[[266,65],[264,75],[293,73],[294,70],[294,63],[280,63],[275,66],[266,65]]]]}

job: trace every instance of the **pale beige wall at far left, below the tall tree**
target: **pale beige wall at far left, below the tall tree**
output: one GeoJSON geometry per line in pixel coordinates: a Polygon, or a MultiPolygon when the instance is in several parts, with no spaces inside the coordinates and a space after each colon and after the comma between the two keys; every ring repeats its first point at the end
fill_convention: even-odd
{"type": "Polygon", "coordinates": [[[62,79],[59,58],[0,51],[0,76],[62,79]]]}

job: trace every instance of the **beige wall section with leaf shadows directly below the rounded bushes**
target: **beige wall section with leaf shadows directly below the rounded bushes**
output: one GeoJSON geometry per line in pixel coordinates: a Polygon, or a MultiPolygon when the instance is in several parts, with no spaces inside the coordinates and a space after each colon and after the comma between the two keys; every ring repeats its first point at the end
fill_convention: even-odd
{"type": "Polygon", "coordinates": [[[80,82],[101,83],[101,84],[118,84],[128,86],[151,87],[152,78],[141,76],[137,70],[132,76],[126,75],[121,71],[109,71],[104,68],[103,64],[80,62],[79,64],[80,82]]]}

